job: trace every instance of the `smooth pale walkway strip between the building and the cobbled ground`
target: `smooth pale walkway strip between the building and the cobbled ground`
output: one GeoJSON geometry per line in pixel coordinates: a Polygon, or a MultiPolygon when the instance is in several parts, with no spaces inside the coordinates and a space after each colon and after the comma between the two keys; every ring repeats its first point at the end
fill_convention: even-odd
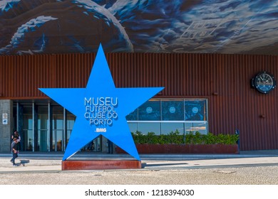
{"type": "MultiPolygon", "coordinates": [[[[63,153],[22,152],[14,167],[11,154],[0,154],[0,173],[58,172],[63,153]]],[[[198,168],[229,168],[278,166],[278,150],[242,151],[240,154],[148,154],[140,155],[140,170],[178,170],[198,168]]],[[[133,159],[126,154],[78,153],[71,159],[133,159]]]]}

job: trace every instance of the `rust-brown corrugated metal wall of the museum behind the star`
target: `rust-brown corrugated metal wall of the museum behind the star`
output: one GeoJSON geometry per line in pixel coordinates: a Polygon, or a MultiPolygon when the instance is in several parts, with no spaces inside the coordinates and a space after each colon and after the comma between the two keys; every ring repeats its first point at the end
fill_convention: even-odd
{"type": "MultiPolygon", "coordinates": [[[[156,97],[208,99],[209,131],[240,129],[242,150],[278,149],[278,89],[267,95],[250,80],[278,56],[105,54],[116,87],[165,87],[156,97]]],[[[0,99],[48,99],[39,87],[86,87],[95,53],[0,56],[0,99]]]]}

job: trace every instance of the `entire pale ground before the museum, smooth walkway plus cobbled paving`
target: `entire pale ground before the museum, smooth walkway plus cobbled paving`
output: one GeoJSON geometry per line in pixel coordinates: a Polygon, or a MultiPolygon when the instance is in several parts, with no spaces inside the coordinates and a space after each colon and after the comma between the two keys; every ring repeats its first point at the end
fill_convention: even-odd
{"type": "MultiPolygon", "coordinates": [[[[242,151],[235,155],[140,155],[143,168],[121,170],[61,171],[62,157],[62,153],[22,153],[16,159],[19,166],[14,167],[9,162],[11,154],[0,154],[0,184],[175,185],[172,188],[176,185],[278,185],[278,150],[242,151]]],[[[72,158],[127,159],[130,156],[76,154],[72,158]]]]}

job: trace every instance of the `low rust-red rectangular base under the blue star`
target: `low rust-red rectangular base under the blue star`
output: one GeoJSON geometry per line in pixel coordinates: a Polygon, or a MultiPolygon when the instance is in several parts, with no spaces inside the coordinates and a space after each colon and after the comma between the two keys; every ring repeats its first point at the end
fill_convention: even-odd
{"type": "Polygon", "coordinates": [[[62,171],[142,168],[135,160],[74,160],[62,161],[62,171]]]}

